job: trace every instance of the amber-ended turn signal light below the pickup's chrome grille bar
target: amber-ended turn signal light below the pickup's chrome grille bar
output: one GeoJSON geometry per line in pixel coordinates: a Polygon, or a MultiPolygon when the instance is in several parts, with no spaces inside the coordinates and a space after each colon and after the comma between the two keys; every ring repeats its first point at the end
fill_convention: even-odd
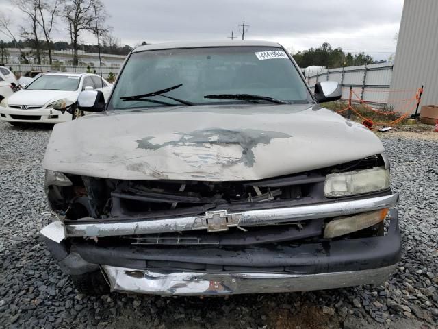
{"type": "Polygon", "coordinates": [[[376,210],[372,212],[365,212],[363,214],[337,217],[327,223],[324,230],[324,238],[331,239],[336,236],[345,235],[351,232],[357,232],[364,228],[376,225],[385,219],[388,213],[388,208],[382,210],[376,210]]]}

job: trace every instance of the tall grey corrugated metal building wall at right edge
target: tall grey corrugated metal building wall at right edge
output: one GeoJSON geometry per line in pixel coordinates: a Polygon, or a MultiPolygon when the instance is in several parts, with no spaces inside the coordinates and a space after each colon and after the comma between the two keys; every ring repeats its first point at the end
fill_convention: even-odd
{"type": "MultiPolygon", "coordinates": [[[[438,0],[404,0],[391,91],[424,84],[422,105],[438,105],[438,0]]],[[[414,111],[414,110],[413,110],[414,111]]]]}

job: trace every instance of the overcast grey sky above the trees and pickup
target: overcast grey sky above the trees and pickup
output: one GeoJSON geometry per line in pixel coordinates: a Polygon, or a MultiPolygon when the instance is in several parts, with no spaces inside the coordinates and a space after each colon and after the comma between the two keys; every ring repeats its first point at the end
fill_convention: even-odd
{"type": "MultiPolygon", "coordinates": [[[[250,25],[246,39],[280,42],[294,52],[318,47],[322,42],[344,51],[365,51],[376,60],[387,59],[396,49],[403,0],[103,0],[113,34],[122,45],[142,41],[221,40],[241,36],[237,25],[250,25]]],[[[0,0],[0,10],[8,10],[0,0]]],[[[23,17],[8,10],[16,22],[23,17]]],[[[3,37],[3,36],[2,36],[3,37]]],[[[1,37],[1,38],[2,38],[1,37]]],[[[62,25],[57,40],[68,40],[62,25]]],[[[86,42],[95,42],[90,35],[86,42]]]]}

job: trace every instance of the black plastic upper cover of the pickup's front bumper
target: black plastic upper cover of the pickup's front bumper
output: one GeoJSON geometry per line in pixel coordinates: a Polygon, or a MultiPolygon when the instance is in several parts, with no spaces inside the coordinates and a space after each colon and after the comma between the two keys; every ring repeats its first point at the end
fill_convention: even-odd
{"type": "Polygon", "coordinates": [[[136,269],[156,269],[162,264],[161,269],[182,270],[178,265],[184,263],[184,270],[192,264],[196,270],[199,265],[206,270],[214,265],[222,267],[222,271],[229,267],[237,271],[242,267],[254,271],[282,267],[293,273],[328,273],[387,267],[398,263],[401,253],[396,210],[391,210],[387,235],[361,239],[260,247],[103,247],[83,240],[72,243],[89,263],[136,269]]]}

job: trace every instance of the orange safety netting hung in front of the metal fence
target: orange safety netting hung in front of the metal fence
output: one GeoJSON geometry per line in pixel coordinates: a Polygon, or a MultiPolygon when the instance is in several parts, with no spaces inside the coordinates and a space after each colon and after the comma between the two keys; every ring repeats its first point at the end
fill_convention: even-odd
{"type": "MultiPolygon", "coordinates": [[[[348,88],[350,90],[350,95],[348,97],[348,106],[346,108],[343,108],[342,110],[338,110],[337,113],[342,113],[345,112],[346,110],[352,110],[352,112],[355,112],[355,114],[357,114],[357,116],[361,119],[363,119],[363,121],[367,122],[367,123],[376,123],[378,125],[396,125],[398,123],[400,123],[401,121],[403,121],[404,119],[406,119],[407,117],[409,117],[409,115],[411,114],[412,110],[417,106],[417,104],[420,103],[420,99],[421,99],[421,94],[423,92],[422,88],[418,88],[417,90],[415,90],[415,95],[413,95],[413,97],[408,98],[408,99],[389,99],[387,100],[387,103],[393,103],[394,101],[396,102],[404,102],[404,105],[401,106],[400,108],[397,108],[394,111],[382,111],[382,110],[378,110],[377,108],[373,108],[370,103],[370,101],[364,101],[363,99],[361,99],[361,97],[359,97],[357,95],[357,93],[355,92],[355,88],[348,88]],[[355,96],[355,98],[353,98],[353,96],[355,96]],[[357,108],[355,108],[353,106],[353,102],[355,103],[359,103],[361,104],[361,106],[363,106],[363,108],[366,108],[367,110],[371,110],[372,112],[378,114],[378,115],[389,115],[389,114],[396,114],[399,113],[401,114],[400,117],[398,117],[397,119],[394,119],[392,121],[385,121],[385,122],[378,122],[378,121],[373,121],[372,119],[365,117],[366,114],[362,114],[361,112],[359,112],[359,110],[357,108]]],[[[357,90],[361,90],[360,88],[356,88],[357,90]]],[[[409,91],[413,92],[413,90],[381,90],[376,88],[376,90],[378,90],[378,93],[407,93],[409,91]]],[[[370,91],[370,89],[366,90],[367,92],[370,91]]]]}

